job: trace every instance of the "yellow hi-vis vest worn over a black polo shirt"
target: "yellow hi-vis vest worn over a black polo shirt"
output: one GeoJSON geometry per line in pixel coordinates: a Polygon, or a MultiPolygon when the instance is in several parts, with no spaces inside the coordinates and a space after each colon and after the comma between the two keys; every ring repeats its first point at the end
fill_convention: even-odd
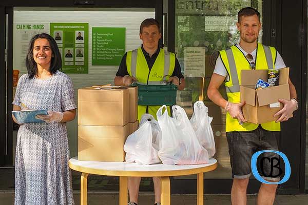
{"type": "MultiPolygon", "coordinates": [[[[141,47],[128,51],[126,67],[128,74],[137,79],[137,83],[144,85],[161,85],[167,81],[175,70],[176,55],[160,49],[151,70],[149,69],[141,47]]],[[[138,106],[138,120],[146,112],[147,106],[138,106]]],[[[156,118],[156,112],[161,106],[148,106],[148,113],[156,118]]],[[[167,107],[170,115],[170,108],[167,107]]]]}

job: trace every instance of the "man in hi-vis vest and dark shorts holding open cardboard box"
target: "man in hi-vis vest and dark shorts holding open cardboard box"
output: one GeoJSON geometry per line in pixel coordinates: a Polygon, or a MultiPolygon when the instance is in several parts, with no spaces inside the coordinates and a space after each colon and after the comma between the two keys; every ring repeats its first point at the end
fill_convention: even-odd
{"type": "MultiPolygon", "coordinates": [[[[252,175],[251,158],[259,150],[277,150],[278,145],[275,131],[280,131],[280,122],[286,121],[297,109],[296,90],[290,78],[291,100],[279,99],[283,109],[275,114],[278,120],[265,124],[246,122],[240,103],[240,73],[243,69],[280,69],[284,62],[274,47],[257,43],[261,29],[260,13],[251,8],[243,8],[238,12],[237,28],[240,32],[240,43],[219,52],[216,66],[208,86],[208,97],[226,113],[226,137],[229,147],[230,163],[232,167],[233,185],[231,191],[232,204],[246,204],[246,189],[249,176],[252,175]],[[224,82],[228,101],[225,100],[219,87],[224,82]]],[[[267,153],[268,157],[273,155],[267,153]]],[[[264,173],[270,172],[267,160],[263,163],[264,173]],[[267,170],[268,169],[268,170],[267,170]],[[267,172],[268,171],[268,172],[267,172]]],[[[272,174],[273,175],[273,174],[272,174]]],[[[280,178],[263,178],[267,181],[279,181],[280,178]]],[[[273,204],[277,185],[262,183],[258,204],[273,204]]]]}

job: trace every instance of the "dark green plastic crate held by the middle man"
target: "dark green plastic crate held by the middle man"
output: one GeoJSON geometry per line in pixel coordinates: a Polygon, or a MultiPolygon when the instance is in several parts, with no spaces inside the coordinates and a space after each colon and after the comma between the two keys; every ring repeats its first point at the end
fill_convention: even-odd
{"type": "Polygon", "coordinates": [[[172,106],[177,103],[178,87],[174,84],[168,85],[141,85],[138,86],[138,105],[140,106],[172,106]]]}

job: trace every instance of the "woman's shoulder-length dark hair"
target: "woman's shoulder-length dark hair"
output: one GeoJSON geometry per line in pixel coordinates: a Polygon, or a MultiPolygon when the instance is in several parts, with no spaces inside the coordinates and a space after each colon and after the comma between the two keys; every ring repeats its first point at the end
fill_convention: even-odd
{"type": "Polygon", "coordinates": [[[36,34],[30,40],[26,56],[26,67],[28,70],[29,79],[33,78],[37,74],[37,65],[33,58],[33,47],[35,40],[38,38],[45,38],[48,40],[50,44],[50,48],[53,55],[53,57],[51,58],[51,64],[49,68],[50,73],[54,74],[57,70],[60,70],[62,67],[61,54],[53,37],[47,33],[36,34]]]}

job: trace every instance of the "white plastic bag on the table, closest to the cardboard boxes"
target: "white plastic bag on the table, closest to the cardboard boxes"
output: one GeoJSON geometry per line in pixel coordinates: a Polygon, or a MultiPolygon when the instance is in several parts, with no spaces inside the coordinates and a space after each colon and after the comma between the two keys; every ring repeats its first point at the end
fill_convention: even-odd
{"type": "Polygon", "coordinates": [[[151,115],[145,116],[141,119],[138,130],[126,139],[124,145],[124,151],[126,152],[125,160],[143,165],[160,163],[158,145],[153,147],[152,144],[153,134],[155,135],[155,140],[158,140],[160,135],[158,122],[151,115]]]}

